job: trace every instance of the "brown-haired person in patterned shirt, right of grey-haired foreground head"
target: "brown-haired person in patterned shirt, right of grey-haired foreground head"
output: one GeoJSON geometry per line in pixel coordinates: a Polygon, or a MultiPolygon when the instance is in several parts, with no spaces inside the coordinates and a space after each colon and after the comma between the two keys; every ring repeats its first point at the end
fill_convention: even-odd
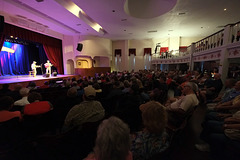
{"type": "Polygon", "coordinates": [[[165,131],[167,112],[159,102],[150,101],[140,106],[144,129],[132,136],[133,158],[149,159],[169,147],[165,131]]]}

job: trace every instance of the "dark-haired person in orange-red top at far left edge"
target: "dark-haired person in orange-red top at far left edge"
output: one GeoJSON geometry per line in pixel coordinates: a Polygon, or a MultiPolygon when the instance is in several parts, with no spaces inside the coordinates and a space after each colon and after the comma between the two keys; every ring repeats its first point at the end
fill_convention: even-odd
{"type": "Polygon", "coordinates": [[[22,120],[21,113],[19,111],[10,112],[10,108],[13,106],[14,100],[12,97],[3,96],[0,98],[0,122],[11,120],[18,117],[22,120]]]}

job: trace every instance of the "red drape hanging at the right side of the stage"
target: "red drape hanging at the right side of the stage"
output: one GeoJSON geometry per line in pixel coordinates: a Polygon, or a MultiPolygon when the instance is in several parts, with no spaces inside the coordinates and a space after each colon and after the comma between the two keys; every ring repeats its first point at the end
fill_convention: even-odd
{"type": "Polygon", "coordinates": [[[48,44],[43,44],[43,48],[50,62],[57,68],[58,73],[63,74],[62,49],[48,44]]]}

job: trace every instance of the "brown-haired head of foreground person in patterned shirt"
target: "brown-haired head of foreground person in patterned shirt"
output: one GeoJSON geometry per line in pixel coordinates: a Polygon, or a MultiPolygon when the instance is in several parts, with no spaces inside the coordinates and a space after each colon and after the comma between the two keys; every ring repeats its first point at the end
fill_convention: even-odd
{"type": "Polygon", "coordinates": [[[156,101],[150,101],[140,106],[143,125],[148,132],[161,134],[167,124],[167,112],[165,107],[156,101]]]}

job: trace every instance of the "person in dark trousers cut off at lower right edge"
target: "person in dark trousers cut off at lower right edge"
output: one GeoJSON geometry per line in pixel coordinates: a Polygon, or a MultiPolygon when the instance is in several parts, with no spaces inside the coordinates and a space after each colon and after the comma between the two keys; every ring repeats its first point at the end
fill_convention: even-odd
{"type": "MultiPolygon", "coordinates": [[[[203,126],[201,138],[204,144],[196,144],[195,147],[200,151],[211,151],[214,159],[232,159],[232,152],[227,153],[229,145],[240,148],[240,111],[231,117],[225,118],[224,122],[209,121],[203,126]],[[227,153],[227,154],[226,154],[227,153]]],[[[238,152],[239,156],[239,152],[238,152]]],[[[238,159],[234,157],[234,159],[238,159]]]]}

